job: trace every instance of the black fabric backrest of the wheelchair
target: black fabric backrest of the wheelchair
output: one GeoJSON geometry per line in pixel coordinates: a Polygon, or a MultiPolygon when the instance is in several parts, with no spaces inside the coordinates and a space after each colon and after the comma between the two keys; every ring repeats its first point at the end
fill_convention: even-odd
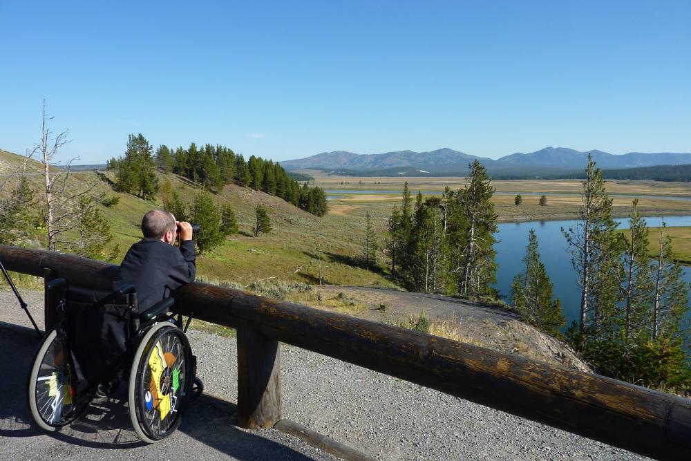
{"type": "Polygon", "coordinates": [[[80,379],[121,379],[134,355],[136,294],[70,285],[66,294],[67,339],[80,379]],[[134,312],[130,306],[134,305],[134,312]],[[134,330],[134,331],[133,331],[134,330]]]}

